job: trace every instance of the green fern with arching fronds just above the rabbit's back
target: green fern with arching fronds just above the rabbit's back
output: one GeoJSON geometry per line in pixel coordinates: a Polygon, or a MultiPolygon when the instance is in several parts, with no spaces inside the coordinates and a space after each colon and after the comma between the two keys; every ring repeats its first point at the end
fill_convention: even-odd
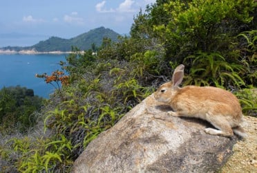
{"type": "Polygon", "coordinates": [[[245,82],[238,72],[246,71],[241,64],[229,63],[220,53],[202,53],[190,55],[185,58],[187,62],[193,59],[190,69],[191,78],[187,78],[187,84],[215,85],[228,87],[229,85],[240,88],[245,82]]]}

